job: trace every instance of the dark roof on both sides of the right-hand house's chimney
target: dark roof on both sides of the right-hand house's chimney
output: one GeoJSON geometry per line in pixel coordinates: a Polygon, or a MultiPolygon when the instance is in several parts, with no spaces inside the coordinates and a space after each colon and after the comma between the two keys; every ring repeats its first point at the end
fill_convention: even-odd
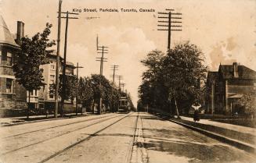
{"type": "MultiPolygon", "coordinates": [[[[256,72],[246,66],[237,66],[238,77],[236,79],[256,79],[256,72]]],[[[231,79],[233,76],[233,65],[220,65],[218,71],[222,74],[223,79],[231,79]]]]}

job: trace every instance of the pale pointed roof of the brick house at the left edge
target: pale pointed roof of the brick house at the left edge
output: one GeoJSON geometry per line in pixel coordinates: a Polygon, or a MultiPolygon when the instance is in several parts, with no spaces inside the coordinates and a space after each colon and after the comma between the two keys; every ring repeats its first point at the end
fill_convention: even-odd
{"type": "Polygon", "coordinates": [[[18,44],[14,41],[13,34],[9,31],[5,20],[0,15],[0,43],[2,44],[11,44],[13,46],[19,47],[18,44]]]}

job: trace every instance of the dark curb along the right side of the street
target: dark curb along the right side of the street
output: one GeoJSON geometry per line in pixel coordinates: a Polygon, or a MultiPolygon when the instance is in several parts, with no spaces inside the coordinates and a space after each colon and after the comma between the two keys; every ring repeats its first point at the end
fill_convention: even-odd
{"type": "Polygon", "coordinates": [[[193,130],[195,130],[195,131],[197,131],[199,133],[203,133],[206,136],[214,138],[215,140],[219,140],[222,143],[238,147],[238,148],[240,148],[243,151],[248,151],[248,152],[251,152],[251,153],[256,153],[256,147],[252,146],[251,144],[243,143],[243,142],[241,142],[239,140],[234,140],[234,139],[231,139],[229,137],[222,136],[222,135],[220,135],[218,133],[213,133],[213,132],[207,131],[205,129],[200,129],[200,128],[197,128],[197,127],[194,127],[194,126],[189,126],[189,125],[187,125],[185,123],[178,122],[178,121],[175,121],[173,119],[168,119],[168,121],[175,122],[176,124],[181,125],[181,126],[185,126],[188,129],[193,129],[193,130]]]}

